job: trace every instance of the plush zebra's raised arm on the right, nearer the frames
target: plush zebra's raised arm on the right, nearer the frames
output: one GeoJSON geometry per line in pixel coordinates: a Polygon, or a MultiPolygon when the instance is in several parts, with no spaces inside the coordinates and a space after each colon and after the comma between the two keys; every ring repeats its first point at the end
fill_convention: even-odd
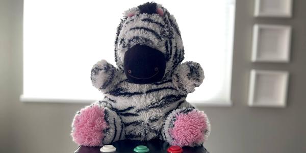
{"type": "Polygon", "coordinates": [[[204,79],[204,71],[199,63],[185,62],[176,67],[172,82],[183,93],[191,93],[201,85],[204,79]]]}

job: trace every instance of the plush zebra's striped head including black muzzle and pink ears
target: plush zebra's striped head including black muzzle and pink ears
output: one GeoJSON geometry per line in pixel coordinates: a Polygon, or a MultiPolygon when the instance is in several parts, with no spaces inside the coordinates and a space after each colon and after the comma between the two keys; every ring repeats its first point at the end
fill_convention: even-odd
{"type": "Polygon", "coordinates": [[[156,3],[124,12],[117,28],[115,61],[136,84],[169,80],[184,59],[184,46],[173,15],[156,3]]]}

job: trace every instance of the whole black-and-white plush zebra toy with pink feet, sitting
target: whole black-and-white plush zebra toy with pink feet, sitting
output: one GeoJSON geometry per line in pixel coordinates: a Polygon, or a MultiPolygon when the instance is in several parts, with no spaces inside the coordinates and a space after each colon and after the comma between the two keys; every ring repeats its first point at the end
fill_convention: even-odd
{"type": "Polygon", "coordinates": [[[171,145],[201,145],[209,120],[185,99],[204,74],[183,59],[179,27],[164,7],[145,3],[125,11],[115,41],[118,68],[105,60],[93,66],[92,84],[105,98],[75,115],[73,141],[102,146],[159,137],[171,145]]]}

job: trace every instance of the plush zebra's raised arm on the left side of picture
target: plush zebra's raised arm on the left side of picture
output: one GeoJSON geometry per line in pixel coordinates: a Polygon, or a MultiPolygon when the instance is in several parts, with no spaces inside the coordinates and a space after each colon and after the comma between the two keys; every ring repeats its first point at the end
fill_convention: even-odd
{"type": "Polygon", "coordinates": [[[92,85],[103,93],[106,93],[123,77],[123,71],[117,69],[106,60],[98,61],[91,69],[92,85]]]}

